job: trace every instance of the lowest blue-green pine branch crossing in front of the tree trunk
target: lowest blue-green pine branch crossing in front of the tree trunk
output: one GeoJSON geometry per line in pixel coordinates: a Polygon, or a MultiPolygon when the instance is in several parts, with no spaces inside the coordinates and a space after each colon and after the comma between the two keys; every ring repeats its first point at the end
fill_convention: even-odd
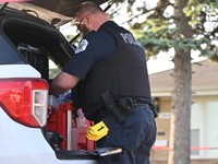
{"type": "MultiPolygon", "coordinates": [[[[173,32],[174,30],[171,30],[173,32]]],[[[183,50],[199,50],[202,56],[213,56],[213,50],[210,48],[203,48],[209,47],[210,40],[206,37],[197,38],[185,38],[185,37],[162,37],[164,32],[166,32],[166,36],[169,35],[170,30],[162,31],[161,33],[153,33],[153,32],[145,32],[138,38],[140,43],[146,49],[146,54],[148,57],[156,56],[160,51],[168,51],[170,48],[183,49],[183,50]],[[159,37],[158,37],[159,35],[159,37]]],[[[215,46],[214,46],[214,49],[215,46]]]]}

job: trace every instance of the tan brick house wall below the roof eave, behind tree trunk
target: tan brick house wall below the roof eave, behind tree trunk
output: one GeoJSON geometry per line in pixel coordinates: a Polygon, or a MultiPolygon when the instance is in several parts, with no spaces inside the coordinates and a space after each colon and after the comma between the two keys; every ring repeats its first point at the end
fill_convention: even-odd
{"type": "MultiPolygon", "coordinates": [[[[206,114],[205,112],[208,110],[207,104],[215,103],[216,105],[216,103],[218,103],[218,96],[193,96],[192,102],[193,102],[192,108],[197,109],[197,114],[199,113],[198,115],[201,116],[201,118],[198,118],[198,121],[202,124],[199,126],[201,127],[199,129],[201,131],[199,144],[201,145],[199,147],[202,147],[207,136],[206,134],[207,129],[205,128],[206,127],[205,122],[208,121],[207,120],[208,118],[205,117],[205,114],[206,114]]],[[[169,151],[161,150],[161,147],[162,149],[166,149],[166,147],[169,145],[171,97],[161,97],[159,99],[158,106],[159,106],[159,116],[158,118],[156,118],[158,133],[157,133],[155,148],[152,150],[152,153],[150,153],[150,161],[152,161],[152,164],[167,164],[169,151]]],[[[213,109],[216,110],[216,108],[213,108],[213,109]]],[[[192,119],[194,118],[192,117],[192,119]]],[[[199,150],[198,155],[191,155],[191,159],[192,159],[191,164],[218,164],[218,155],[217,157],[215,157],[215,155],[213,156],[213,154],[215,154],[216,152],[218,152],[218,149],[217,150],[199,150]],[[209,157],[208,155],[209,153],[211,154],[211,157],[209,157]]]]}

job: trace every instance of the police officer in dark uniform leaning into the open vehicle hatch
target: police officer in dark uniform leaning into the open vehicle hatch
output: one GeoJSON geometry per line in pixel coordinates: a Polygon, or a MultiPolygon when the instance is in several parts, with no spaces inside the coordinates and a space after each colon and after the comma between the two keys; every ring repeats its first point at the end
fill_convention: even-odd
{"type": "Polygon", "coordinates": [[[101,164],[149,164],[156,124],[144,49],[93,2],[82,3],[75,24],[83,39],[52,81],[50,94],[73,87],[85,117],[108,127],[97,148],[119,147],[122,152],[100,156],[101,164]]]}

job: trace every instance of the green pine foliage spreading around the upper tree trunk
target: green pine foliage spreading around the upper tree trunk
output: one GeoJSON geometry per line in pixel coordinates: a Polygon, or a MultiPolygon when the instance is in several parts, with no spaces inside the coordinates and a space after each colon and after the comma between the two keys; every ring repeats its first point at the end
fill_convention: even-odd
{"type": "MultiPolygon", "coordinates": [[[[131,0],[131,5],[134,2],[131,0]]],[[[172,0],[159,0],[156,7],[148,8],[149,4],[145,1],[143,7],[136,8],[137,15],[133,15],[129,21],[134,22],[134,19],[144,15],[145,20],[141,21],[142,23],[131,24],[132,30],[136,31],[137,39],[146,49],[147,56],[156,56],[173,47],[183,50],[198,50],[201,56],[217,59],[218,47],[213,40],[218,40],[218,1],[189,0],[183,12],[190,20],[189,25],[193,34],[191,38],[185,38],[182,34],[175,35],[179,28],[174,24],[175,4],[173,2],[172,0]]],[[[133,11],[131,12],[134,14],[133,11]]]]}

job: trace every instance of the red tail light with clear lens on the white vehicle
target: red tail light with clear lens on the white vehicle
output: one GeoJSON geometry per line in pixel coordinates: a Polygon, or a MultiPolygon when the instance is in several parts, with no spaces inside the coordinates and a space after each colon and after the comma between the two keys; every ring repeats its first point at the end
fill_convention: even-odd
{"type": "Polygon", "coordinates": [[[0,79],[0,106],[28,127],[47,122],[48,84],[43,79],[0,79]]]}

